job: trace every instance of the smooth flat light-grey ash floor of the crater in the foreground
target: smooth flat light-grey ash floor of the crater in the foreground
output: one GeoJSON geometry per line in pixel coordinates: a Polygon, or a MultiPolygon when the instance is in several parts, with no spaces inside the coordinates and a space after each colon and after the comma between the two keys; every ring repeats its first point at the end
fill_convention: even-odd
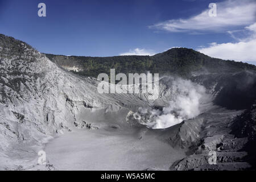
{"type": "Polygon", "coordinates": [[[46,146],[47,159],[59,170],[169,169],[185,157],[147,130],[77,130],[53,139],[46,146]],[[116,130],[116,131],[113,131],[116,130]]]}

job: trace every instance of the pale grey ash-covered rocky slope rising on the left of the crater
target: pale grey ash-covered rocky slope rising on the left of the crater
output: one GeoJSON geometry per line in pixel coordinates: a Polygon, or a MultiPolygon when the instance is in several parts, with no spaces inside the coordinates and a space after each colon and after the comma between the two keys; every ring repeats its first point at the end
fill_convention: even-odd
{"type": "Polygon", "coordinates": [[[131,109],[145,105],[135,96],[97,94],[96,79],[73,75],[5,35],[0,35],[0,75],[0,169],[31,167],[28,160],[52,136],[88,126],[83,117],[88,111],[117,111],[123,102],[131,109]]]}

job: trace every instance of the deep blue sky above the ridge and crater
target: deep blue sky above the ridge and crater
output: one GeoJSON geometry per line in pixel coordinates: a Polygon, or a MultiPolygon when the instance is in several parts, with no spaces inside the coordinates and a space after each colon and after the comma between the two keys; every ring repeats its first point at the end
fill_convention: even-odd
{"type": "MultiPolygon", "coordinates": [[[[217,18],[226,18],[228,22],[221,23],[222,20],[216,21],[216,17],[201,14],[208,12],[211,2],[0,0],[0,33],[23,40],[40,52],[60,55],[153,55],[171,47],[187,47],[220,57],[214,55],[214,51],[219,52],[219,47],[228,43],[236,46],[254,36],[253,33],[249,35],[254,29],[246,27],[254,28],[255,17],[251,14],[255,12],[242,18],[230,18],[225,9],[241,7],[241,2],[214,1],[217,18]],[[46,4],[46,17],[38,16],[40,2],[46,4]],[[200,22],[196,22],[198,19],[200,22]],[[217,22],[215,25],[211,23],[214,21],[217,22]]],[[[249,0],[242,5],[246,3],[255,5],[249,0]]],[[[247,6],[238,11],[244,14],[244,10],[254,11],[247,6]]],[[[221,58],[226,59],[226,56],[221,58]]],[[[256,61],[253,55],[246,60],[256,61]]]]}

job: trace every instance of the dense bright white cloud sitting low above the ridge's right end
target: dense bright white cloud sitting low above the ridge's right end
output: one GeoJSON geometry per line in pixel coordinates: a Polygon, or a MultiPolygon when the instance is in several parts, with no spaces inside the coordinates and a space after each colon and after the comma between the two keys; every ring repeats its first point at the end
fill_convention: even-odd
{"type": "Polygon", "coordinates": [[[256,23],[245,27],[247,37],[239,39],[237,43],[210,43],[209,47],[197,51],[211,57],[225,60],[253,61],[256,64],[256,23]]]}

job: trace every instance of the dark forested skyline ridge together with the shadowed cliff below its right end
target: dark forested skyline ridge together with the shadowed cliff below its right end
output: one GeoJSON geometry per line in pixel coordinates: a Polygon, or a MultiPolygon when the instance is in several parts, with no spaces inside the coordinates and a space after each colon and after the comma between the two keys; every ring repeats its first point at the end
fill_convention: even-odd
{"type": "Polygon", "coordinates": [[[249,109],[256,100],[256,66],[209,57],[188,48],[172,48],[154,56],[85,57],[46,54],[49,60],[78,75],[159,73],[183,77],[216,93],[214,104],[249,109]]]}

